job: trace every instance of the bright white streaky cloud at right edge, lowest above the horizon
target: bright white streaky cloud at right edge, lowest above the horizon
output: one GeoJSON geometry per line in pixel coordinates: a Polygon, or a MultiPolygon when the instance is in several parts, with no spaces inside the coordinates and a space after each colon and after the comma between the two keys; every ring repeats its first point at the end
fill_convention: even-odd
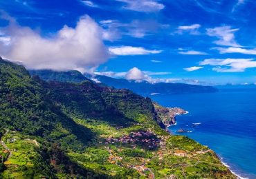
{"type": "Polygon", "coordinates": [[[247,68],[256,67],[255,59],[205,59],[200,65],[212,65],[216,72],[244,72],[247,68]]]}

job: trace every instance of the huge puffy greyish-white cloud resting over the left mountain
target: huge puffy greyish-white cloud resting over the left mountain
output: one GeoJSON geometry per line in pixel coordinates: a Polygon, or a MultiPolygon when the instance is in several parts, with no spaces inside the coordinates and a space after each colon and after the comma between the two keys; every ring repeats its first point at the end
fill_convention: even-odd
{"type": "Polygon", "coordinates": [[[42,36],[14,23],[0,30],[10,39],[0,41],[0,54],[29,69],[85,71],[109,58],[102,29],[89,16],[81,17],[75,28],[64,25],[53,36],[42,36]]]}

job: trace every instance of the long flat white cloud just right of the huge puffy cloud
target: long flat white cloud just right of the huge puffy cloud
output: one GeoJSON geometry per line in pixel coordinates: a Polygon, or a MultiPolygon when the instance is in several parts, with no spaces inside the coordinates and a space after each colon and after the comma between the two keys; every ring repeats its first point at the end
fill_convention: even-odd
{"type": "Polygon", "coordinates": [[[147,50],[145,48],[136,48],[131,46],[111,47],[109,51],[116,55],[143,55],[143,54],[159,54],[162,50],[147,50]]]}

